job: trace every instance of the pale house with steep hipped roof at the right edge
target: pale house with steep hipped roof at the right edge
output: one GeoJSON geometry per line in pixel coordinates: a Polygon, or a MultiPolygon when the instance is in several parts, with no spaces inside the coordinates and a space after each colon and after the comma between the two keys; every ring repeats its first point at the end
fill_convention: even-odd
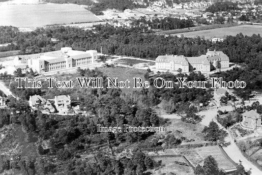
{"type": "Polygon", "coordinates": [[[254,129],[254,130],[261,130],[261,119],[262,116],[257,113],[257,110],[247,111],[242,114],[242,126],[254,129]]]}

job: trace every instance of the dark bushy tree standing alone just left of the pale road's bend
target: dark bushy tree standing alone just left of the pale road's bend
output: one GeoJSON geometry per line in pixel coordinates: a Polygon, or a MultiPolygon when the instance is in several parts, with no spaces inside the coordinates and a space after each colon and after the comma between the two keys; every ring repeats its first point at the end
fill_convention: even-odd
{"type": "Polygon", "coordinates": [[[202,133],[204,134],[204,139],[212,142],[224,141],[227,136],[227,132],[223,129],[219,129],[216,122],[210,121],[208,127],[205,126],[202,133]]]}

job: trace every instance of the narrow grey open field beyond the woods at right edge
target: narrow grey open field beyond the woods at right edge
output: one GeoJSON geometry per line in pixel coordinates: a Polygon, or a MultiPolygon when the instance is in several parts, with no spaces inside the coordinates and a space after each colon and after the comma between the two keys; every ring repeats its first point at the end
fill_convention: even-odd
{"type": "Polygon", "coordinates": [[[262,26],[256,25],[240,25],[229,28],[219,28],[219,29],[207,29],[201,31],[191,31],[191,32],[183,32],[183,33],[175,33],[175,35],[183,34],[185,37],[196,37],[196,36],[204,36],[205,39],[210,39],[213,36],[216,37],[224,37],[226,35],[235,36],[236,34],[242,32],[243,35],[252,36],[255,34],[262,34],[262,26]]]}

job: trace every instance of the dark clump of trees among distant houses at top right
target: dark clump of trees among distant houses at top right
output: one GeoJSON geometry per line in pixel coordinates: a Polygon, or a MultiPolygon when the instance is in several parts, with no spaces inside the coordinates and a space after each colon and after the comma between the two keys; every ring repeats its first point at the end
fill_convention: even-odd
{"type": "Polygon", "coordinates": [[[237,2],[231,1],[217,1],[216,3],[210,5],[205,9],[206,12],[221,12],[221,11],[231,11],[231,10],[239,10],[237,7],[237,2]]]}

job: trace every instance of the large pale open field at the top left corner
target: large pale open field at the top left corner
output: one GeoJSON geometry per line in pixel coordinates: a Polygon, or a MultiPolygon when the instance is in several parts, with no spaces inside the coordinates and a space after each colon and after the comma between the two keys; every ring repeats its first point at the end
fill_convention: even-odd
{"type": "Polygon", "coordinates": [[[100,21],[76,4],[1,4],[0,16],[0,26],[19,28],[100,21]]]}

